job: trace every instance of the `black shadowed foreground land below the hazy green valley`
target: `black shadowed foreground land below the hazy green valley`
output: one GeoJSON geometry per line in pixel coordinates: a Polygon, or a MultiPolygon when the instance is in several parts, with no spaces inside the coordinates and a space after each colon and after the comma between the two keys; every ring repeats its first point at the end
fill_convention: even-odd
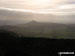
{"type": "Polygon", "coordinates": [[[59,56],[62,51],[75,51],[75,40],[21,37],[0,30],[0,56],[59,56]]]}

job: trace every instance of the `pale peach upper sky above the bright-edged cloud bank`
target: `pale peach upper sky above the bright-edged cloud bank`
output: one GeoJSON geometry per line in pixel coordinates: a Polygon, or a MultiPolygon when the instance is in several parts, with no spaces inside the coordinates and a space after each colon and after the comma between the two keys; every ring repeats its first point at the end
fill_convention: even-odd
{"type": "Polygon", "coordinates": [[[0,7],[19,9],[51,9],[63,4],[73,4],[75,0],[0,0],[0,7]]]}

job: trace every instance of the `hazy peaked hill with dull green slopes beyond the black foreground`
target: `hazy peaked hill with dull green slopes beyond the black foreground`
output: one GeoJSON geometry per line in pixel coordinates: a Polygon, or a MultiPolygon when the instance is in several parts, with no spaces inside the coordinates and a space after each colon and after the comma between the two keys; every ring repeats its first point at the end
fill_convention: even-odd
{"type": "Polygon", "coordinates": [[[60,24],[50,22],[31,21],[26,24],[15,26],[1,26],[0,28],[11,30],[26,37],[48,37],[48,38],[75,38],[74,24],[60,24]]]}

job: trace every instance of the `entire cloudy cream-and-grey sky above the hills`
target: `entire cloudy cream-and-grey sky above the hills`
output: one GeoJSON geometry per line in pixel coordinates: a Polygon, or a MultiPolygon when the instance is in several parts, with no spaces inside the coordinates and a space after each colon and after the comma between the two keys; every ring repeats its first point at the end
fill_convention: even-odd
{"type": "Polygon", "coordinates": [[[0,20],[73,23],[75,0],[0,0],[0,20]]]}

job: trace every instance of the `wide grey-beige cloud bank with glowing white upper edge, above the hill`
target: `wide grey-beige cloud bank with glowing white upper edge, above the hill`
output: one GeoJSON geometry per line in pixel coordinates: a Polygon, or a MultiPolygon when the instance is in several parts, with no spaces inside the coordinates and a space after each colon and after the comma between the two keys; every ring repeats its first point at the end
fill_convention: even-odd
{"type": "Polygon", "coordinates": [[[39,11],[0,8],[0,20],[8,20],[15,23],[26,23],[31,20],[40,22],[75,23],[74,9],[74,4],[39,11]]]}

